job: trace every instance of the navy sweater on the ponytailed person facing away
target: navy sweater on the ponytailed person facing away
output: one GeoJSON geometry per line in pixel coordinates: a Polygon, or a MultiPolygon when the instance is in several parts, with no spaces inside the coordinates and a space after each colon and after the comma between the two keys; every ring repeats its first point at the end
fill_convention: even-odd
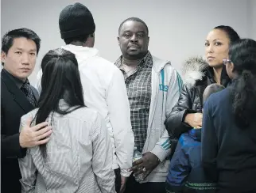
{"type": "Polygon", "coordinates": [[[220,192],[256,192],[256,115],[250,127],[235,124],[231,86],[204,106],[202,161],[220,192]]]}

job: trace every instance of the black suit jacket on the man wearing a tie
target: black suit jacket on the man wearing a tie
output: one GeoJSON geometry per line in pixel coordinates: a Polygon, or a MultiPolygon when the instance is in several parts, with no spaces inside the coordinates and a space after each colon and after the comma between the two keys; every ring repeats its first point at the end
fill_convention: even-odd
{"type": "MultiPolygon", "coordinates": [[[[38,99],[37,90],[33,88],[38,99]]],[[[17,158],[25,156],[26,149],[19,144],[21,116],[33,110],[21,89],[5,70],[1,71],[1,192],[21,192],[20,169],[17,158]],[[11,186],[9,184],[12,184],[11,186]]]]}

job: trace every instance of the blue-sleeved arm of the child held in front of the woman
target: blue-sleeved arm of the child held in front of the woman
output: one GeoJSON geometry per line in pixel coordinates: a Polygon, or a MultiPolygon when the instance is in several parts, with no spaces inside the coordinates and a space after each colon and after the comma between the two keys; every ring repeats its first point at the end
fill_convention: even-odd
{"type": "MultiPolygon", "coordinates": [[[[182,140],[183,135],[180,137],[182,140]]],[[[180,140],[176,146],[175,153],[173,154],[169,174],[167,177],[168,190],[173,192],[182,192],[184,189],[184,184],[188,179],[188,174],[191,170],[188,155],[186,155],[185,150],[181,146],[180,140]]]]}

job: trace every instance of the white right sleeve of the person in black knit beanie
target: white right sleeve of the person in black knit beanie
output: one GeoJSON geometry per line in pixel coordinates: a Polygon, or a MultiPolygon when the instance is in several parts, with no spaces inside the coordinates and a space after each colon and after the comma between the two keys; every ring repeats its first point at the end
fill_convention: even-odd
{"type": "Polygon", "coordinates": [[[130,123],[130,104],[122,72],[117,69],[107,91],[109,117],[113,127],[114,145],[122,176],[130,176],[126,169],[132,166],[134,133],[130,123]]]}

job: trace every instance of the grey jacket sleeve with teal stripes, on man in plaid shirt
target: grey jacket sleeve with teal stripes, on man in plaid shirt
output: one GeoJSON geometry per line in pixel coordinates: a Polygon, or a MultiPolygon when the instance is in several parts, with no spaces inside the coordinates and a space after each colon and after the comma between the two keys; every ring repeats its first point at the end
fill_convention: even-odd
{"type": "MultiPolygon", "coordinates": [[[[173,70],[173,75],[171,77],[169,89],[166,96],[165,115],[169,115],[169,113],[172,111],[173,106],[176,104],[176,101],[180,96],[181,85],[182,81],[180,75],[176,72],[176,70],[173,70]]],[[[165,131],[161,134],[156,146],[151,152],[155,154],[160,161],[164,161],[165,158],[169,156],[170,146],[171,142],[169,139],[169,134],[168,131],[165,129],[165,131]]]]}

